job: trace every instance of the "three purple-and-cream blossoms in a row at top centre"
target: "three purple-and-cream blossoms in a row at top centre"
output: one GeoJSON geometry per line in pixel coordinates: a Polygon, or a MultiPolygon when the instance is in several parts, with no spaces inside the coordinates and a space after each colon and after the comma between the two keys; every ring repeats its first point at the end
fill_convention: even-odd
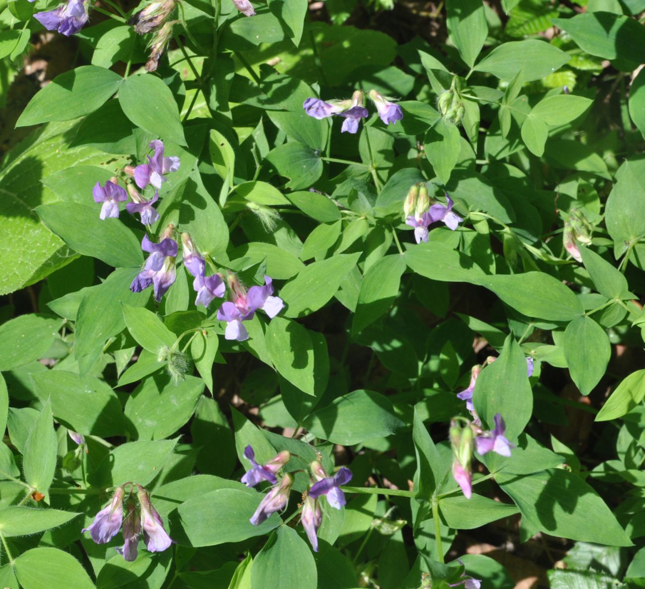
{"type": "MultiPolygon", "coordinates": [[[[376,106],[381,121],[386,125],[395,125],[403,118],[401,106],[383,97],[376,90],[368,92],[370,99],[376,106]]],[[[364,106],[364,93],[356,90],[352,98],[347,100],[324,101],[319,98],[308,98],[303,103],[304,112],[314,119],[325,119],[332,115],[339,115],[345,120],[342,122],[341,133],[355,133],[359,130],[361,119],[366,118],[370,112],[364,106]]]]}

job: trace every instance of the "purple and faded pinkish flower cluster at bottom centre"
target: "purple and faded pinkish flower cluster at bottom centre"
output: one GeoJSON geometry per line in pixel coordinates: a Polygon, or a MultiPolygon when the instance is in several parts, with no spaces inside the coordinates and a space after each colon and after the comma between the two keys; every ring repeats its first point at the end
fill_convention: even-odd
{"type": "MultiPolygon", "coordinates": [[[[255,452],[251,446],[246,446],[244,457],[251,463],[249,470],[243,477],[242,482],[246,486],[255,486],[260,481],[268,481],[273,485],[269,492],[264,495],[262,501],[257,506],[255,513],[250,518],[250,522],[257,526],[273,514],[286,508],[289,500],[289,493],[293,484],[293,475],[286,473],[277,480],[277,474],[286,466],[291,455],[284,450],[277,456],[273,457],[268,463],[258,464],[255,462],[255,452]]],[[[335,508],[341,509],[346,503],[345,494],[341,486],[347,484],[352,479],[352,471],[349,468],[339,468],[333,476],[328,476],[323,465],[319,461],[313,461],[310,466],[312,473],[311,484],[308,491],[303,494],[303,504],[301,512],[301,523],[304,531],[312,544],[314,552],[318,552],[317,530],[323,521],[323,512],[319,505],[320,498],[324,495],[327,503],[335,508]]]]}

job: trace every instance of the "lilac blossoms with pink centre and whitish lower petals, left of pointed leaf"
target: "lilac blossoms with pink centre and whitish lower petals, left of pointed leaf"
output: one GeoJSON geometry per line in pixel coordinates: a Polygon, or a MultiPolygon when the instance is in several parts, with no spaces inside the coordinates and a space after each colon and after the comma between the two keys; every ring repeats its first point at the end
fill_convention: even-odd
{"type": "Polygon", "coordinates": [[[248,339],[248,332],[242,322],[253,319],[255,311],[262,309],[270,319],[273,319],[284,307],[280,297],[273,297],[273,282],[264,276],[264,286],[252,286],[248,292],[237,280],[234,274],[228,275],[228,285],[233,291],[233,303],[227,301],[217,310],[217,319],[226,321],[224,339],[248,339]]]}

